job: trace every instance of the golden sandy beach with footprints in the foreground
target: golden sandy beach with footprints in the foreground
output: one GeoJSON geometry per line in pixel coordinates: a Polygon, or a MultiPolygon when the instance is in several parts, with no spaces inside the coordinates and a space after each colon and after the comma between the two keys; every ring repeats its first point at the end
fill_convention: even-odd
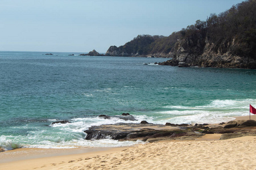
{"type": "MultiPolygon", "coordinates": [[[[251,119],[255,119],[251,116],[251,119]]],[[[237,119],[247,119],[239,117],[237,119]]],[[[132,147],[81,150],[21,148],[0,153],[0,169],[255,169],[256,136],[219,141],[162,141],[132,147]]]]}

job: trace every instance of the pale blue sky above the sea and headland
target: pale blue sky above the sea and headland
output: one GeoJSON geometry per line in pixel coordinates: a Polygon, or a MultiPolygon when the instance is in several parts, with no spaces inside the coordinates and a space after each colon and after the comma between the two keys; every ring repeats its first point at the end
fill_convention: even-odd
{"type": "Polygon", "coordinates": [[[241,0],[1,0],[0,50],[105,53],[137,35],[171,35],[241,0]]]}

